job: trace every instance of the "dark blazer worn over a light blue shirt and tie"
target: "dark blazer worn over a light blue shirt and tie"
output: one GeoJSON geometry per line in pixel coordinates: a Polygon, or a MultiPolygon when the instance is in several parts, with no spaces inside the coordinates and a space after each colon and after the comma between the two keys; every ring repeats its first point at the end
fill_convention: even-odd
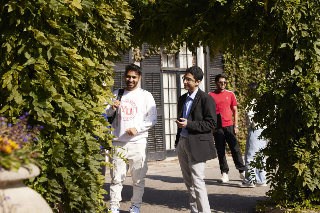
{"type": "MultiPolygon", "coordinates": [[[[183,106],[187,94],[181,95],[178,101],[178,119],[183,116],[183,106]]],[[[196,97],[190,109],[187,126],[190,150],[194,159],[198,162],[217,157],[212,138],[212,130],[217,125],[217,111],[214,99],[198,89],[196,97]]],[[[175,144],[179,142],[181,128],[178,127],[175,144]]]]}

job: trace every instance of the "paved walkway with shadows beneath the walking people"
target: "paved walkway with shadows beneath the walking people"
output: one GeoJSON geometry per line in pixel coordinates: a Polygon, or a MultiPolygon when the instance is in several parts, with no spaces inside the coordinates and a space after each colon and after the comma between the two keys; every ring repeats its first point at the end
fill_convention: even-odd
{"type": "MultiPolygon", "coordinates": [[[[227,157],[229,165],[229,181],[217,182],[220,179],[218,159],[206,162],[205,182],[208,192],[211,212],[254,212],[257,200],[265,199],[268,187],[240,188],[239,172],[236,170],[231,157],[227,157]]],[[[188,192],[184,185],[179,161],[168,158],[162,161],[148,162],[146,187],[141,206],[141,213],[173,213],[190,212],[188,192]]],[[[104,188],[109,192],[110,171],[107,168],[104,188]]],[[[132,180],[130,173],[124,181],[120,213],[128,213],[132,196],[132,180]]],[[[105,201],[109,205],[109,195],[105,201]]]]}

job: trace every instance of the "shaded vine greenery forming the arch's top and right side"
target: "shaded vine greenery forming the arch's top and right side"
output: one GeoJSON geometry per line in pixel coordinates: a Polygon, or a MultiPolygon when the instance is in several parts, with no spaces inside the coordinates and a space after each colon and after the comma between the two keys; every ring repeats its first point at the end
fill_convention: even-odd
{"type": "MultiPolygon", "coordinates": [[[[320,199],[320,3],[317,0],[128,1],[132,43],[187,42],[245,56],[267,77],[257,89],[254,119],[263,135],[271,203],[318,208],[320,199]],[[260,94],[263,94],[260,97],[260,94]]],[[[250,70],[247,72],[250,73],[250,70]]],[[[245,75],[244,75],[245,76],[245,75]]]]}

